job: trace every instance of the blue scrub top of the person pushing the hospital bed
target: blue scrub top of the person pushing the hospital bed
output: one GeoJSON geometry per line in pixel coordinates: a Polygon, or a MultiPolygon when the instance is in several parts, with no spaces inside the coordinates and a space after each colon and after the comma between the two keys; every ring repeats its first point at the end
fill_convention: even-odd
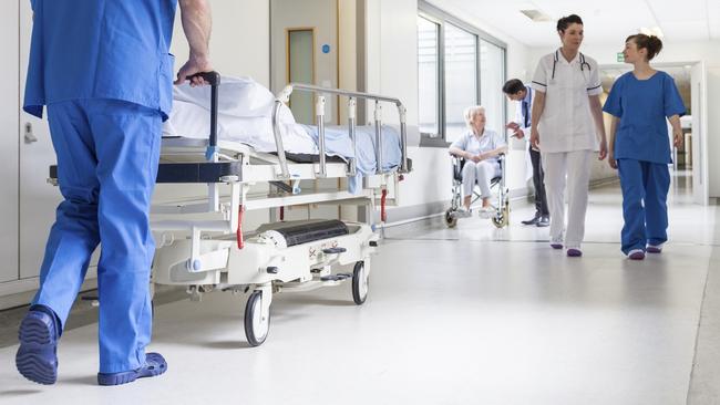
{"type": "Polygon", "coordinates": [[[168,53],[177,0],[31,0],[34,13],[23,110],[114,98],[157,110],[173,101],[168,53]]]}

